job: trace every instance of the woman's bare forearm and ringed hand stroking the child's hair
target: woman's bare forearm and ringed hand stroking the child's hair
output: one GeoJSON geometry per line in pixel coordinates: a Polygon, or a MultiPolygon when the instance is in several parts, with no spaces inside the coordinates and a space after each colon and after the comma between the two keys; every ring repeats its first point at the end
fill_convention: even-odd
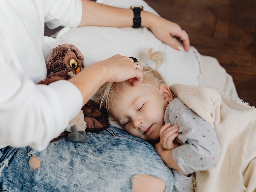
{"type": "Polygon", "coordinates": [[[76,85],[82,93],[85,104],[106,82],[121,82],[128,79],[133,86],[138,85],[142,81],[143,66],[140,61],[137,63],[138,69],[132,58],[114,55],[107,60],[89,65],[68,81],[76,85]]]}

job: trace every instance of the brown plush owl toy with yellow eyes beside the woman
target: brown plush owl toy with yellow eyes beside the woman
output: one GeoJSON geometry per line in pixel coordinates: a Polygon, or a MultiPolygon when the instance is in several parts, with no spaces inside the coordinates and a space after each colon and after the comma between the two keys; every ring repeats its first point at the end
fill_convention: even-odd
{"type": "MultiPolygon", "coordinates": [[[[68,80],[84,69],[84,56],[75,45],[61,44],[54,48],[46,60],[47,78],[38,84],[50,84],[58,80],[68,80]]],[[[87,132],[99,132],[109,126],[108,113],[100,109],[98,103],[89,100],[80,113],[69,122],[61,137],[68,137],[74,141],[88,142],[87,132]]]]}

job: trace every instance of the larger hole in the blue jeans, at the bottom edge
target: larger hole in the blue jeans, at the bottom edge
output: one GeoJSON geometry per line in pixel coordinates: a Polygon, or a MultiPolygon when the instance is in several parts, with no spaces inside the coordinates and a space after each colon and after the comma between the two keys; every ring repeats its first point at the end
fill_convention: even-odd
{"type": "Polygon", "coordinates": [[[136,175],[132,178],[132,192],[163,192],[165,181],[151,175],[136,175]]]}

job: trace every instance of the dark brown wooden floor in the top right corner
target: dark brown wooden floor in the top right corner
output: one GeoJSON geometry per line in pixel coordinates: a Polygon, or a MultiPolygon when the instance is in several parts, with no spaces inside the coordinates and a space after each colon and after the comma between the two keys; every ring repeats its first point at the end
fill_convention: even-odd
{"type": "Polygon", "coordinates": [[[145,0],[162,17],[178,23],[191,45],[219,60],[238,95],[256,105],[255,0],[145,0]]]}

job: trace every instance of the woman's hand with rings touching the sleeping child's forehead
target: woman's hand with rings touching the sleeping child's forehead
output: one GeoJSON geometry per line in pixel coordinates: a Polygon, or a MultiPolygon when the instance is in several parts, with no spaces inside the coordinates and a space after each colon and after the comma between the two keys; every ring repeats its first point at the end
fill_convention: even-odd
{"type": "Polygon", "coordinates": [[[107,82],[122,82],[128,80],[133,86],[141,83],[143,79],[143,66],[140,61],[134,63],[132,58],[114,55],[104,61],[98,62],[107,68],[107,82]],[[137,68],[138,67],[138,68],[137,68]]]}

